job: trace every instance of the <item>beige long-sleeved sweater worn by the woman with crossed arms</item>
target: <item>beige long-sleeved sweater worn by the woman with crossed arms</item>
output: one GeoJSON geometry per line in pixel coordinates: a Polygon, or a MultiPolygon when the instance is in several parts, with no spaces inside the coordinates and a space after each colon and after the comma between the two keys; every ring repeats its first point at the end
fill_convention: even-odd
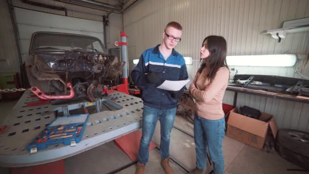
{"type": "Polygon", "coordinates": [[[206,71],[197,73],[193,83],[196,88],[190,89],[191,96],[196,99],[195,113],[208,120],[219,120],[224,117],[222,99],[229,81],[229,70],[221,67],[210,83],[206,71]]]}

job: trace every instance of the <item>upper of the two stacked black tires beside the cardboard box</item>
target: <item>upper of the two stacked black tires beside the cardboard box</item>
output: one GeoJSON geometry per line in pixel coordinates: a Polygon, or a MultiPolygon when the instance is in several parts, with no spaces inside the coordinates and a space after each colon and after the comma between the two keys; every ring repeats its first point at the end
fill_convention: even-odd
{"type": "Polygon", "coordinates": [[[309,159],[308,132],[293,129],[283,129],[278,131],[276,142],[281,144],[281,146],[285,147],[286,149],[289,149],[296,154],[301,154],[303,157],[309,159]]]}

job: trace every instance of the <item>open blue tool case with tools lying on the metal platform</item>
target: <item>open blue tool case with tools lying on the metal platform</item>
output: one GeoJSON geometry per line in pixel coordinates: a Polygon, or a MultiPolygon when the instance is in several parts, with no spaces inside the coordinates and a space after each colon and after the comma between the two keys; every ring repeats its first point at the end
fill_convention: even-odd
{"type": "Polygon", "coordinates": [[[58,117],[37,135],[27,146],[31,152],[33,148],[42,150],[54,144],[80,142],[86,128],[89,113],[58,117]]]}

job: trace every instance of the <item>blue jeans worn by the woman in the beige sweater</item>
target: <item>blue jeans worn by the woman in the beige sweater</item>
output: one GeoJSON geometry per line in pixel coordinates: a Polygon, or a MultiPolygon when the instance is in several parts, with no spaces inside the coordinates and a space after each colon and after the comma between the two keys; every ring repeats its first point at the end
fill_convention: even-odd
{"type": "Polygon", "coordinates": [[[225,135],[225,120],[207,120],[194,115],[194,141],[196,147],[196,166],[199,169],[206,168],[207,147],[210,159],[213,162],[215,174],[223,174],[224,157],[222,141],[225,135]]]}

